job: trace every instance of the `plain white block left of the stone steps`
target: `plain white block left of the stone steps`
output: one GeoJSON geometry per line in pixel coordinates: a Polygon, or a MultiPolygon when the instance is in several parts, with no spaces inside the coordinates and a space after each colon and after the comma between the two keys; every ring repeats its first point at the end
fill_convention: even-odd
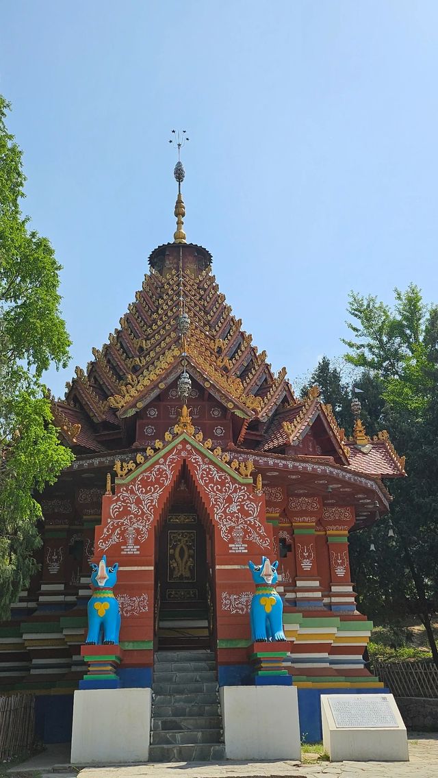
{"type": "Polygon", "coordinates": [[[151,689],[79,689],[73,704],[72,765],[147,762],[151,689]]]}

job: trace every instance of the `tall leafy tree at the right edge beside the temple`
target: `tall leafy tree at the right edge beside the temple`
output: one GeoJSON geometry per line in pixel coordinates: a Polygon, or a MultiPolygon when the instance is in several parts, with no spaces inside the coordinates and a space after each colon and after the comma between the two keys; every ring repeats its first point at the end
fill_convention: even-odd
{"type": "MultiPolygon", "coordinates": [[[[438,612],[438,307],[427,306],[413,284],[394,294],[391,309],[376,297],[351,293],[353,338],[344,341],[349,347],[345,359],[377,377],[384,401],[380,419],[396,449],[406,455],[408,478],[391,483],[394,548],[386,543],[384,558],[377,553],[376,559],[384,608],[419,615],[438,664],[431,625],[438,612]]],[[[356,570],[359,547],[353,534],[356,570]]]]}

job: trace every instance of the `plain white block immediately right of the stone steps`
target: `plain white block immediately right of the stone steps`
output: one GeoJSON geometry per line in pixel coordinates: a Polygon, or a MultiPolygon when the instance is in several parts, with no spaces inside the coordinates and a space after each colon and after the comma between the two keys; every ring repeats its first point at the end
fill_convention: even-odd
{"type": "Polygon", "coordinates": [[[301,759],[295,686],[219,689],[227,759],[301,759]]]}

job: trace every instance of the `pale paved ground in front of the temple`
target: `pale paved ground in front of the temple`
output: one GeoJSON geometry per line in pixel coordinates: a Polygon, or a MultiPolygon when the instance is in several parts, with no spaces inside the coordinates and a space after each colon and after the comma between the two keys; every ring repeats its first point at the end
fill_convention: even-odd
{"type": "MultiPolygon", "coordinates": [[[[14,773],[35,773],[41,778],[68,778],[75,773],[66,764],[60,765],[48,752],[23,762],[11,770],[14,773]],[[39,762],[37,761],[39,760],[39,762]],[[50,764],[51,762],[51,764],[50,764]],[[51,771],[51,772],[50,772],[51,771]]],[[[79,778],[438,778],[438,734],[409,736],[410,762],[169,762],[114,767],[88,767],[79,778]]],[[[311,758],[307,755],[307,758],[311,758]]]]}

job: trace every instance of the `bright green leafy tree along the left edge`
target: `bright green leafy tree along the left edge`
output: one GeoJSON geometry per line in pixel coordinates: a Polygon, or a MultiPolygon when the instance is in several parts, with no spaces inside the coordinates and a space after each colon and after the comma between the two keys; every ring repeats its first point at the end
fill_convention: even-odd
{"type": "Polygon", "coordinates": [[[22,152],[5,124],[0,96],[0,617],[37,567],[40,506],[33,493],[72,461],[52,424],[41,375],[68,363],[60,315],[61,265],[20,209],[22,152]]]}

